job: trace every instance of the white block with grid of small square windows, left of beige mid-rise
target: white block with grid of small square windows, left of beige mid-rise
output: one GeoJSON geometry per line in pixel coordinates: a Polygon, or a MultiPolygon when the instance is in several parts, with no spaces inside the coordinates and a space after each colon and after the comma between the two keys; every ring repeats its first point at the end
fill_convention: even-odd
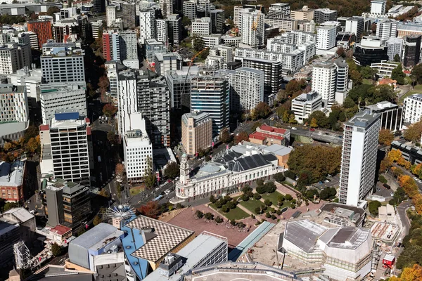
{"type": "Polygon", "coordinates": [[[151,165],[153,163],[153,145],[146,133],[146,122],[142,114],[133,113],[129,119],[132,126],[123,138],[124,164],[127,180],[129,183],[136,183],[145,176],[148,161],[151,161],[151,165]]]}

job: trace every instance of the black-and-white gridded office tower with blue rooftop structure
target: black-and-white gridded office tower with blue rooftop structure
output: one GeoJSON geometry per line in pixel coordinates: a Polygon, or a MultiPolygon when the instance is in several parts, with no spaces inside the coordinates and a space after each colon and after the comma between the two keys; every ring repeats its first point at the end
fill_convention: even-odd
{"type": "Polygon", "coordinates": [[[78,112],[56,113],[47,125],[39,127],[41,174],[90,185],[91,127],[78,112]]]}

